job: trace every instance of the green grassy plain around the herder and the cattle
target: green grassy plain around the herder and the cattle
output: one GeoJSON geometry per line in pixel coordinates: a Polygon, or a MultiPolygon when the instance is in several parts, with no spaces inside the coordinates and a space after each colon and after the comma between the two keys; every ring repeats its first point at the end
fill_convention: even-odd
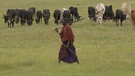
{"type": "Polygon", "coordinates": [[[88,6],[97,3],[113,5],[114,11],[122,2],[135,8],[134,0],[0,0],[0,76],[135,76],[135,30],[131,22],[123,26],[104,22],[99,25],[88,19],[88,6]],[[78,5],[80,4],[80,5],[78,5]],[[49,8],[49,26],[15,24],[8,28],[3,15],[8,8],[49,8]],[[82,21],[71,27],[80,64],[58,64],[61,41],[54,29],[53,11],[77,6],[82,21]]]}

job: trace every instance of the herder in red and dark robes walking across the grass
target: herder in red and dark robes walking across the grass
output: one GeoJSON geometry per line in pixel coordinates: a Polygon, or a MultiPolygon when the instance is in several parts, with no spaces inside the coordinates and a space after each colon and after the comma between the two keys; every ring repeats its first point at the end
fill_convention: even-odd
{"type": "Polygon", "coordinates": [[[75,52],[76,49],[73,45],[74,34],[70,25],[68,24],[68,19],[63,19],[62,25],[63,27],[60,33],[58,29],[55,29],[55,31],[59,33],[60,39],[62,41],[62,45],[59,51],[58,62],[60,63],[61,61],[63,61],[66,63],[74,63],[74,62],[79,63],[76,52],[75,52]]]}

